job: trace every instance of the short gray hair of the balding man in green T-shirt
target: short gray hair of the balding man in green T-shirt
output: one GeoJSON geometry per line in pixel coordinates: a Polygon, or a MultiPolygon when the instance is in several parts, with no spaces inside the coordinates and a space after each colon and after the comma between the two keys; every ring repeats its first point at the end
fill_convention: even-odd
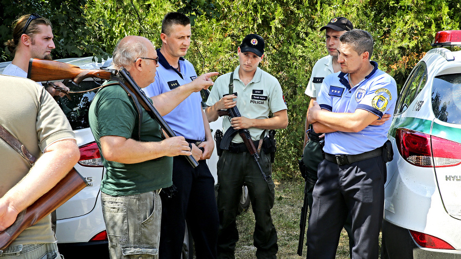
{"type": "MultiPolygon", "coordinates": [[[[147,56],[148,49],[140,41],[120,41],[115,46],[114,52],[112,53],[112,65],[115,69],[121,67],[129,67],[136,61],[137,58],[147,56]]],[[[145,60],[147,64],[150,64],[150,60],[145,60]]]]}

